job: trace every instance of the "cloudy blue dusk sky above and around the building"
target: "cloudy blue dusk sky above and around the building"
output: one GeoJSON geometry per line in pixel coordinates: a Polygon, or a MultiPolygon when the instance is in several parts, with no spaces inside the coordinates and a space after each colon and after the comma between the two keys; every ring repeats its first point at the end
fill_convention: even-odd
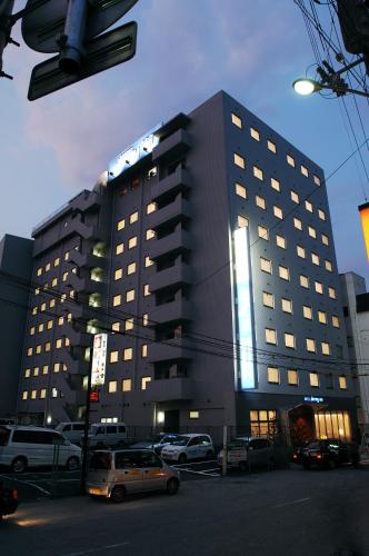
{"type": "MultiPolygon", "coordinates": [[[[16,0],[16,10],[24,1],[16,0]]],[[[318,7],[325,17],[326,7],[318,7]]],[[[47,58],[9,46],[0,80],[0,236],[32,228],[81,189],[144,131],[189,112],[220,89],[320,165],[328,177],[356,149],[338,99],[298,97],[292,81],[315,62],[292,0],[139,0],[119,24],[138,22],[136,57],[43,99],[27,100],[34,63],[47,58]]],[[[357,98],[368,129],[367,99],[357,98]]],[[[358,142],[365,140],[346,97],[358,142]]],[[[369,168],[369,148],[362,157],[369,168]]],[[[358,156],[328,180],[339,271],[367,278],[358,205],[369,185],[358,156]]]]}

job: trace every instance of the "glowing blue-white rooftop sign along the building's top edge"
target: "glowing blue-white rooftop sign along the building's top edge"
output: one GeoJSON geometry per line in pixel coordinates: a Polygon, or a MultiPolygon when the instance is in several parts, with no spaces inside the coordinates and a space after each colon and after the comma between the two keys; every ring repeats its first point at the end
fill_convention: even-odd
{"type": "Polygon", "coordinates": [[[143,137],[133,142],[128,149],[123,150],[118,157],[109,162],[108,181],[123,173],[128,168],[131,168],[136,162],[147,157],[152,152],[152,149],[159,143],[159,137],[153,133],[162,127],[158,123],[154,128],[148,131],[143,137]]]}

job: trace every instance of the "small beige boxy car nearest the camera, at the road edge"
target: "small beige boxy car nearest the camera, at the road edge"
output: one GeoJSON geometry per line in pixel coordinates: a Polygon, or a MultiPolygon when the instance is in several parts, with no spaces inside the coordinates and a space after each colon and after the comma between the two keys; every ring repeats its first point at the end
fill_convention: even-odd
{"type": "Polygon", "coordinates": [[[174,495],[180,474],[152,450],[98,450],[90,455],[87,492],[123,502],[128,494],[167,490],[174,495]]]}

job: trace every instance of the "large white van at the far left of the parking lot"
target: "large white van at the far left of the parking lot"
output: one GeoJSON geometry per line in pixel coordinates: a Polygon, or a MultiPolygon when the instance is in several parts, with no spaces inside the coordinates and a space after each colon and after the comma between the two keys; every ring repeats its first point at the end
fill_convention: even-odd
{"type": "Polygon", "coordinates": [[[81,448],[49,428],[0,426],[0,465],[10,467],[13,473],[52,465],[57,456],[58,465],[74,470],[81,461],[81,448]]]}

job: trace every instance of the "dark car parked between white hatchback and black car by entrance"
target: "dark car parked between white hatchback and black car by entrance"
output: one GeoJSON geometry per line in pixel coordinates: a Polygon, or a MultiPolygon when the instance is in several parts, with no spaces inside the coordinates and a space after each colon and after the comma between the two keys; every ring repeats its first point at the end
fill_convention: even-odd
{"type": "MultiPolygon", "coordinates": [[[[222,466],[223,450],[218,454],[217,463],[222,466]]],[[[238,437],[227,446],[227,465],[246,470],[253,466],[273,465],[273,446],[268,438],[238,437]]]]}

